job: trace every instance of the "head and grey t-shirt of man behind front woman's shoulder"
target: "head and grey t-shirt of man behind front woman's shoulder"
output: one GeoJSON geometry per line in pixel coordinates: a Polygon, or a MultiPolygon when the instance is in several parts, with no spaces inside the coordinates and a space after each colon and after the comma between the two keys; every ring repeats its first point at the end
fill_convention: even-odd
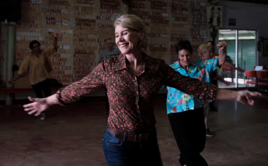
{"type": "Polygon", "coordinates": [[[106,49],[101,50],[98,63],[100,63],[102,59],[111,58],[121,54],[119,49],[117,47],[114,47],[114,42],[112,42],[111,38],[105,39],[104,42],[106,49]]]}

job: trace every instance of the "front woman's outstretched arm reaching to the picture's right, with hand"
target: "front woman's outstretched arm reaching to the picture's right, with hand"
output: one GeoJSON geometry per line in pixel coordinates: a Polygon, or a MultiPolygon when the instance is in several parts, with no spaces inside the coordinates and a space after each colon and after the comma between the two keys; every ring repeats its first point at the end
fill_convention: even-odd
{"type": "Polygon", "coordinates": [[[259,92],[250,92],[248,90],[232,91],[219,89],[213,84],[199,81],[195,78],[182,76],[179,72],[165,65],[167,79],[164,85],[176,88],[184,93],[192,94],[205,102],[210,100],[233,100],[240,103],[253,105],[254,96],[261,96],[259,92]]]}

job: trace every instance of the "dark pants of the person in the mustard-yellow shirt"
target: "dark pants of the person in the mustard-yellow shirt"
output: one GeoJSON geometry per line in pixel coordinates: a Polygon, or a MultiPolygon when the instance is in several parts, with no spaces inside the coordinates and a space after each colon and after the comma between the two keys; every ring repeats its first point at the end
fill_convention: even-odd
{"type": "MultiPolygon", "coordinates": [[[[44,96],[48,97],[51,95],[49,79],[46,79],[42,82],[38,82],[37,84],[32,85],[32,87],[37,98],[44,98],[44,96]],[[43,96],[42,90],[44,92],[44,96],[43,96]]],[[[42,112],[42,115],[44,115],[45,113],[46,111],[42,112]]]]}

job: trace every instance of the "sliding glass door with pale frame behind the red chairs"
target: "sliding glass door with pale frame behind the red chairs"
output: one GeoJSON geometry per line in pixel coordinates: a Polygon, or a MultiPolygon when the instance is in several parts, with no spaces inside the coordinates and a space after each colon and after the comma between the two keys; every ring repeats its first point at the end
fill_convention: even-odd
{"type": "Polygon", "coordinates": [[[222,65],[221,76],[230,82],[230,85],[218,82],[218,86],[220,88],[246,87],[242,69],[254,70],[256,65],[256,31],[220,29],[218,41],[227,43],[226,61],[229,63],[222,65]]]}

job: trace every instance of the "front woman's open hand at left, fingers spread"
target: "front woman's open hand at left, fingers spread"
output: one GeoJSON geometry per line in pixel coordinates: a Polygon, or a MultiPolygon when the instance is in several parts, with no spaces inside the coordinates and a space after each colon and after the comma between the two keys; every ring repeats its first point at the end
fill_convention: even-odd
{"type": "Polygon", "coordinates": [[[35,113],[34,115],[38,116],[41,114],[41,112],[45,111],[46,109],[48,109],[48,107],[50,107],[50,105],[48,105],[46,101],[46,98],[31,98],[28,96],[28,99],[33,103],[23,105],[23,107],[24,111],[29,111],[28,114],[30,115],[35,113]]]}

